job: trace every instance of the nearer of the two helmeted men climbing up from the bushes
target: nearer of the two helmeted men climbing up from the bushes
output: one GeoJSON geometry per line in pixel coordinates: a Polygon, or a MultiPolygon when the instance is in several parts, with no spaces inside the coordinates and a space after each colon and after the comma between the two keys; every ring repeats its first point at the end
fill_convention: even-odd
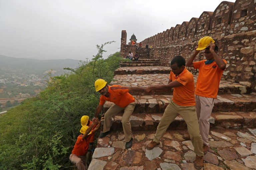
{"type": "Polygon", "coordinates": [[[90,138],[92,134],[94,134],[100,128],[101,121],[93,130],[92,128],[94,127],[95,123],[92,123],[90,127],[82,126],[80,129],[81,134],[77,137],[75,146],[69,156],[69,159],[71,162],[76,164],[78,170],[88,169],[88,166],[86,165],[86,154],[88,152],[90,138]]]}

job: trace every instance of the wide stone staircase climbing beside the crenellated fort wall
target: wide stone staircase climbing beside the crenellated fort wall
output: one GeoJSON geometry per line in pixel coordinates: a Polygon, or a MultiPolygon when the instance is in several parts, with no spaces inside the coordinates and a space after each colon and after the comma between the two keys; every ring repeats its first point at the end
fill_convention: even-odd
{"type": "MultiPolygon", "coordinates": [[[[150,59],[139,59],[139,62],[140,64],[153,62],[148,60],[150,59]]],[[[131,65],[127,67],[125,65],[115,71],[110,85],[147,87],[167,84],[170,71],[169,67],[162,66],[131,65]]],[[[194,75],[194,79],[196,83],[197,75],[194,75]]],[[[250,91],[251,88],[242,82],[241,84],[220,82],[218,96],[209,120],[210,147],[204,156],[205,169],[256,168],[254,166],[256,143],[253,143],[256,142],[256,129],[250,129],[256,127],[256,95],[250,94],[250,91]],[[245,131],[248,133],[244,133],[245,131]],[[233,157],[230,158],[228,155],[233,157]]],[[[102,170],[194,169],[193,146],[191,141],[184,141],[182,138],[182,134],[187,132],[187,126],[179,116],[170,124],[158,147],[150,151],[145,149],[154,138],[153,135],[163,112],[173,97],[172,92],[171,90],[154,94],[131,93],[136,100],[136,106],[130,118],[134,138],[132,148],[125,149],[121,123],[122,112],[120,112],[112,118],[112,132],[107,137],[98,139],[89,170],[96,167],[102,170]]],[[[104,111],[106,112],[112,104],[106,102],[104,111]]]]}

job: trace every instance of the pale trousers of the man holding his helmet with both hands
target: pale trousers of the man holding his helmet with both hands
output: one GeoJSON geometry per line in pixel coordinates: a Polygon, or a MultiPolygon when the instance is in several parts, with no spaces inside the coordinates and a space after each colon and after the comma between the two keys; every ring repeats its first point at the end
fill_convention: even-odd
{"type": "Polygon", "coordinates": [[[208,134],[210,130],[209,119],[211,117],[212,108],[214,106],[214,98],[202,97],[195,95],[196,98],[196,114],[199,124],[200,134],[203,139],[203,143],[207,146],[208,142],[208,134]]]}

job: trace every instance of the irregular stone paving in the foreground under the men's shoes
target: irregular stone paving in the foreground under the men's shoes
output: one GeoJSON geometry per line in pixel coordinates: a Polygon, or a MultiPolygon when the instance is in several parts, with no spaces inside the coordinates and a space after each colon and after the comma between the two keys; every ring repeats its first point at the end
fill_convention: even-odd
{"type": "MultiPolygon", "coordinates": [[[[182,135],[186,130],[167,130],[160,144],[152,150],[146,145],[154,138],[153,131],[136,131],[133,146],[125,148],[122,131],[113,131],[102,139],[93,153],[89,170],[193,170],[194,148],[182,135]]],[[[207,170],[256,169],[256,129],[210,129],[209,149],[204,156],[207,170]]]]}

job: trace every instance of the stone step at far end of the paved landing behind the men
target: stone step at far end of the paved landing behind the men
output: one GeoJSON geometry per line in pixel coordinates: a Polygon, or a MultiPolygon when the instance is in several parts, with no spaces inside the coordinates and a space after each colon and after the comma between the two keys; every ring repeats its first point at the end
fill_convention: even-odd
{"type": "Polygon", "coordinates": [[[170,74],[171,68],[164,66],[145,66],[145,67],[120,67],[114,74],[170,74]]]}

